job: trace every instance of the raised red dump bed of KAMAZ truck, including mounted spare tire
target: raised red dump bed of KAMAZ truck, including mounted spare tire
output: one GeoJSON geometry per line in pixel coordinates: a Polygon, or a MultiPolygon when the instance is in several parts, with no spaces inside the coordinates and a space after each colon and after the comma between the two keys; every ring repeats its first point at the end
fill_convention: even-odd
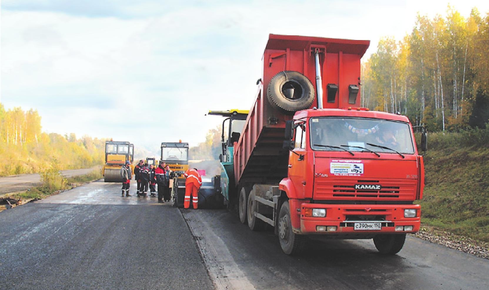
{"type": "Polygon", "coordinates": [[[369,43],[270,34],[256,100],[234,150],[238,188],[247,183],[278,184],[287,176],[285,121],[298,110],[318,107],[316,93],[324,92],[322,108],[360,106],[360,58],[369,43]],[[316,59],[321,67],[319,92],[316,59]]]}

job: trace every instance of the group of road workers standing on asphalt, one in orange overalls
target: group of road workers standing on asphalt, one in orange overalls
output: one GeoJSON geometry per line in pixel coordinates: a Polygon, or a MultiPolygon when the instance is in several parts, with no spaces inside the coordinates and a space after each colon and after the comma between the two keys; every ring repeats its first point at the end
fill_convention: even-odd
{"type": "MultiPolygon", "coordinates": [[[[158,191],[158,203],[164,203],[170,201],[170,180],[174,178],[174,172],[170,170],[170,166],[166,165],[164,161],[160,161],[158,167],[154,168],[152,164],[148,165],[144,160],[139,160],[139,163],[134,166],[134,170],[131,170],[131,163],[126,161],[121,168],[122,183],[122,196],[132,196],[129,194],[132,175],[134,173],[137,182],[137,196],[147,197],[148,190],[151,196],[156,196],[156,186],[158,191]]],[[[185,180],[185,198],[183,200],[183,207],[190,208],[190,200],[192,200],[192,206],[197,209],[199,203],[198,192],[202,185],[202,178],[196,168],[187,170],[183,176],[185,180]]]]}

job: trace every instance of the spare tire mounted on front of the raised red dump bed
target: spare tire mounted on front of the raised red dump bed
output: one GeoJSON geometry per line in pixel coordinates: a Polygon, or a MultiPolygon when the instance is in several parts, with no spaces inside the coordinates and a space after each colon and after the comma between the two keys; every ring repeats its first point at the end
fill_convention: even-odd
{"type": "Polygon", "coordinates": [[[303,74],[282,71],[270,79],[267,97],[274,107],[293,114],[311,107],[314,101],[314,87],[303,74]]]}

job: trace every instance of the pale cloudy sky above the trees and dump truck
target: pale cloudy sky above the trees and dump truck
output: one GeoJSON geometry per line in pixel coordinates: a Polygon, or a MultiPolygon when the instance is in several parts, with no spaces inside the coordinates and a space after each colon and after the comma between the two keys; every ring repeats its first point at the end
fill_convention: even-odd
{"type": "Polygon", "coordinates": [[[209,110],[249,109],[268,34],[401,39],[416,13],[476,0],[1,0],[1,96],[45,132],[155,150],[202,142],[209,110]],[[181,4],[180,4],[181,2],[181,4]]]}

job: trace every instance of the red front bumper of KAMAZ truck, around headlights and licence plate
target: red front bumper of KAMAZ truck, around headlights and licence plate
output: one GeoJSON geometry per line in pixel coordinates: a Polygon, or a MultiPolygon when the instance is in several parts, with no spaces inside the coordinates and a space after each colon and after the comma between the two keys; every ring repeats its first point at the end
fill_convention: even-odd
{"type": "MultiPolygon", "coordinates": [[[[338,205],[302,203],[300,211],[301,234],[355,234],[372,235],[378,233],[414,233],[420,230],[421,206],[406,205],[338,205]],[[325,217],[305,216],[306,209],[326,209],[325,217]],[[404,217],[405,209],[416,209],[416,217],[404,217]],[[355,223],[381,223],[380,230],[356,230],[355,223]],[[318,226],[336,227],[335,231],[318,231],[318,226]],[[412,226],[409,231],[396,231],[396,227],[412,226]]],[[[319,227],[323,228],[323,227],[319,227]]],[[[324,229],[324,228],[323,228],[324,229]]]]}

